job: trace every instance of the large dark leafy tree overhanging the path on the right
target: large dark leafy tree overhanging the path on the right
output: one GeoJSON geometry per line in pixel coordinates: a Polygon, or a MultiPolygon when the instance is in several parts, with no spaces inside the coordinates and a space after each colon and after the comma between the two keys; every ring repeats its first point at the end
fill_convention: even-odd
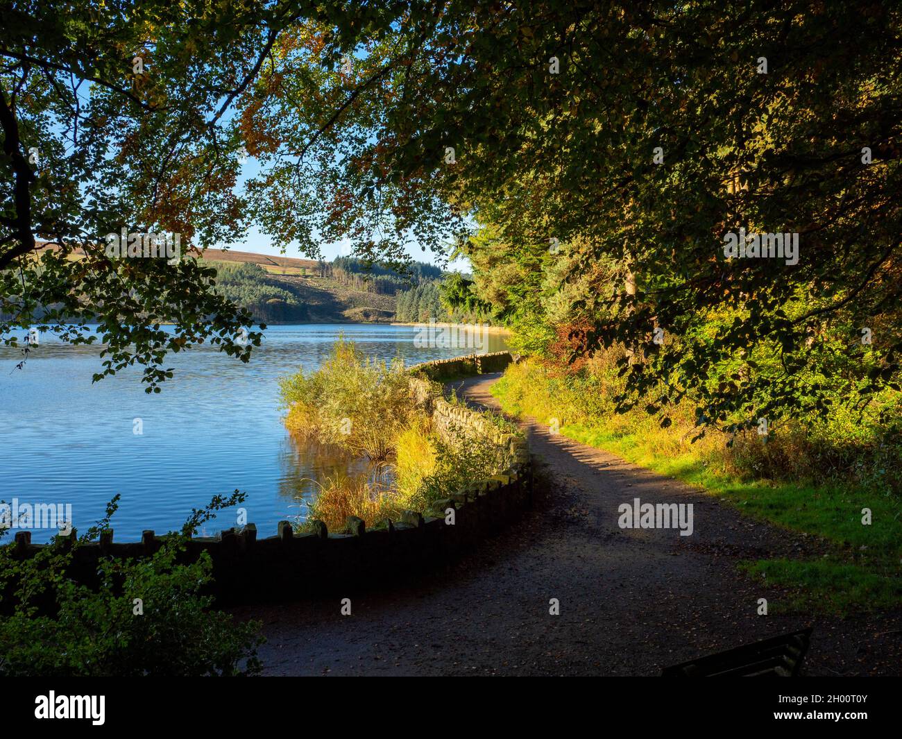
{"type": "Polygon", "coordinates": [[[621,408],[661,388],[655,411],[688,394],[702,426],[826,413],[838,356],[851,402],[897,381],[899,21],[887,2],[448,2],[399,14],[348,79],[308,71],[331,39],[311,30],[248,108],[285,143],[258,188],[291,211],[265,215],[391,256],[383,226],[440,248],[467,214],[523,292],[578,241],[564,282],[620,273],[576,299],[579,345],[641,349],[621,408]],[[800,251],[728,259],[739,233],[800,251]]]}

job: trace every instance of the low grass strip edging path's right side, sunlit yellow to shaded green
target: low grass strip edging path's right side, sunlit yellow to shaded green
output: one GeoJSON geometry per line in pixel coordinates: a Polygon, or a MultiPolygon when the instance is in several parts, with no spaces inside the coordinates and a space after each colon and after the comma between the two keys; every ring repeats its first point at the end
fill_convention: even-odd
{"type": "MultiPolygon", "coordinates": [[[[555,393],[538,387],[535,379],[515,370],[494,384],[492,394],[513,415],[546,423],[555,413],[565,415],[555,393]]],[[[787,588],[790,595],[776,605],[778,610],[846,615],[902,605],[902,509],[895,494],[865,485],[774,482],[766,470],[757,477],[743,475],[731,464],[723,439],[690,445],[682,438],[685,430],[660,429],[637,417],[604,416],[592,423],[565,423],[559,430],[569,439],[701,488],[759,521],[824,540],[824,559],[741,564],[750,576],[787,588]],[[870,509],[870,525],[862,524],[864,508],[870,509]]]]}

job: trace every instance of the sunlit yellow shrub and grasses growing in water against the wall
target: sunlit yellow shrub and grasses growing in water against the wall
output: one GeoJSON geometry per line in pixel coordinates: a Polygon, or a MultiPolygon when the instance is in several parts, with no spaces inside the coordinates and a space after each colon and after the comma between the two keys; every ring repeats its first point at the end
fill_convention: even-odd
{"type": "MultiPolygon", "coordinates": [[[[349,516],[372,528],[404,511],[428,511],[431,503],[501,469],[501,450],[492,444],[463,432],[439,437],[414,401],[410,374],[400,362],[373,362],[344,337],[318,370],[283,378],[281,396],[285,425],[299,439],[371,461],[362,474],[318,482],[307,520],[322,521],[329,531],[344,531],[349,516]]],[[[499,416],[486,418],[499,430],[516,430],[499,416]]],[[[309,523],[298,526],[304,531],[309,523]]]]}

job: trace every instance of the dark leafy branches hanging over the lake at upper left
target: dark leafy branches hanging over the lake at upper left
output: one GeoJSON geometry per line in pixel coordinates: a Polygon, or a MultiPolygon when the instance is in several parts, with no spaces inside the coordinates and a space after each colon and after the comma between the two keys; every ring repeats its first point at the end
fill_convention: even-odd
{"type": "Polygon", "coordinates": [[[6,3],[5,343],[17,345],[17,329],[38,322],[89,343],[96,337],[86,324],[97,320],[107,358],[95,379],[143,365],[148,392],[171,376],[166,354],[197,342],[246,362],[261,335],[244,341],[251,316],[209,288],[211,270],[184,258],[111,259],[106,235],[179,235],[185,252],[241,236],[247,203],[237,174],[262,141],[246,135],[235,114],[264,66],[273,66],[276,42],[290,45],[299,24],[322,23],[353,45],[384,13],[292,0],[6,3]],[[161,328],[167,322],[173,330],[161,328]]]}

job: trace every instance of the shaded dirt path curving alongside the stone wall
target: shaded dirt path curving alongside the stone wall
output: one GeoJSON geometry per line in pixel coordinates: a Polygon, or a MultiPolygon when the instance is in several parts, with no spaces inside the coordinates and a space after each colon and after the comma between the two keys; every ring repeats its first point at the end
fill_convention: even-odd
{"type": "MultiPolygon", "coordinates": [[[[498,375],[455,383],[497,409],[498,375]]],[[[814,626],[808,674],[898,674],[902,614],[840,621],[759,616],[780,594],[740,559],[816,556],[805,537],[619,457],[521,423],[558,485],[546,502],[453,568],[416,587],[236,610],[262,619],[272,675],[657,675],[756,638],[814,626]],[[624,530],[618,506],[693,503],[695,531],[624,530]],[[560,614],[550,615],[557,598],[560,614]]]]}

